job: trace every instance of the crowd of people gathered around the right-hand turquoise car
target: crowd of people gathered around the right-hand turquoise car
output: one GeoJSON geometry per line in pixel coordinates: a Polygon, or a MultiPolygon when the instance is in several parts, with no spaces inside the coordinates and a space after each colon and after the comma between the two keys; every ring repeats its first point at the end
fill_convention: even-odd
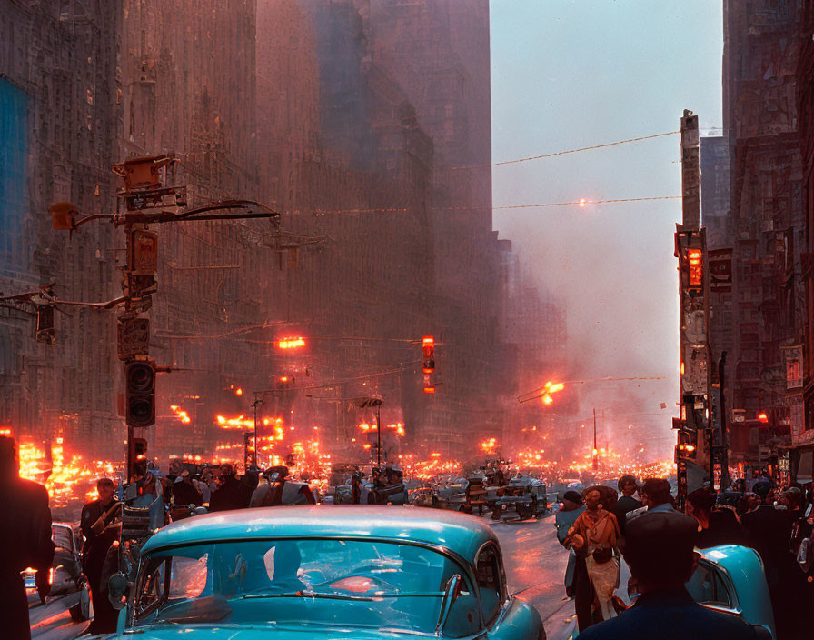
{"type": "MultiPolygon", "coordinates": [[[[689,637],[685,619],[689,613],[703,614],[691,623],[699,625],[697,629],[714,628],[707,609],[701,612],[698,605],[690,606],[683,585],[698,558],[687,550],[719,545],[749,546],[759,553],[779,640],[806,635],[814,578],[810,563],[801,565],[798,558],[800,545],[811,535],[812,518],[806,508],[811,495],[800,486],[779,489],[762,477],[751,483],[750,491],[746,488],[735,485],[719,494],[705,485],[687,496],[683,514],[663,478],[640,484],[625,475],[619,480],[619,493],[605,485],[589,486],[581,494],[566,492],[556,527],[561,545],[569,549],[565,588],[574,600],[580,636],[584,632],[586,638],[652,637],[637,631],[636,625],[655,624],[664,615],[662,623],[668,626],[660,637],[689,637]],[[621,586],[640,594],[630,610],[617,592],[622,562],[630,567],[632,578],[621,586]],[[708,623],[712,627],[701,626],[708,623]]],[[[761,632],[732,627],[727,633],[731,635],[708,637],[758,637],[752,634],[761,632]]]]}

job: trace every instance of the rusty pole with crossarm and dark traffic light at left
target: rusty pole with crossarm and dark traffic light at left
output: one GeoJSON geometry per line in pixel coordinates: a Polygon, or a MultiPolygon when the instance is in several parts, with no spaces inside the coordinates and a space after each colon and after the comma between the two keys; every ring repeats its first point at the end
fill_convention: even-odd
{"type": "Polygon", "coordinates": [[[128,482],[133,478],[137,460],[146,457],[144,448],[134,450],[134,445],[141,442],[140,438],[134,437],[134,429],[155,424],[155,374],[163,369],[149,357],[150,318],[145,314],[153,306],[153,294],[158,289],[155,281],[158,235],[149,231],[148,225],[244,218],[273,218],[277,223],[280,218],[277,212],[251,200],[226,200],[185,209],[186,187],[163,184],[163,180],[174,181],[176,162],[173,154],[165,154],[133,158],[113,165],[114,174],[124,178],[124,188],[117,194],[124,201],[124,214],[94,214],[77,219],[80,212],[71,203],[55,203],[50,207],[54,229],[73,233],[79,226],[95,220],[107,220],[114,226],[124,225],[124,297],[114,303],[124,303],[117,318],[117,351],[119,359],[124,361],[124,406],[120,407],[120,413],[127,425],[128,482]],[[235,209],[243,209],[243,212],[230,213],[235,209]]]}

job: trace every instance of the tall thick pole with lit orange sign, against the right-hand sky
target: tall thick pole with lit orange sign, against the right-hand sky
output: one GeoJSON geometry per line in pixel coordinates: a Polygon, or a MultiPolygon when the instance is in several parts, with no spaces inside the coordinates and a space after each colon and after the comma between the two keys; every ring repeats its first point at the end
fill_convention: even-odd
{"type": "Polygon", "coordinates": [[[710,278],[706,230],[700,225],[700,147],[698,115],[681,117],[681,224],[676,225],[679,259],[680,407],[676,465],[678,502],[710,478],[712,361],[710,278]]]}

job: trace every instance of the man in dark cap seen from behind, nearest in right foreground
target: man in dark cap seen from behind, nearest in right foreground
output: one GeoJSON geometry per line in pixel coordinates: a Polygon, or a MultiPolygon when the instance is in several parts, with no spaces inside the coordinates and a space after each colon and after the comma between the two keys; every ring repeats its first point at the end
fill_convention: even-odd
{"type": "Polygon", "coordinates": [[[677,511],[629,520],[625,559],[640,587],[636,604],[611,620],[593,625],[581,640],[685,640],[769,638],[769,631],[695,602],[684,584],[698,565],[693,547],[698,525],[677,511]]]}

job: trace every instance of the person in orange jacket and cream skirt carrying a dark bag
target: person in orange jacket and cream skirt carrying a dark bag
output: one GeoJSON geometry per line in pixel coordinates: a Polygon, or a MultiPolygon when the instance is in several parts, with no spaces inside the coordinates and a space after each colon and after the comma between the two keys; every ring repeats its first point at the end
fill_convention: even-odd
{"type": "MultiPolygon", "coordinates": [[[[616,495],[616,492],[613,492],[616,495]]],[[[589,486],[582,492],[586,510],[569,530],[568,544],[585,559],[591,580],[592,601],[599,619],[610,620],[616,615],[613,591],[619,585],[620,531],[616,516],[603,508],[600,485],[589,486]]]]}

